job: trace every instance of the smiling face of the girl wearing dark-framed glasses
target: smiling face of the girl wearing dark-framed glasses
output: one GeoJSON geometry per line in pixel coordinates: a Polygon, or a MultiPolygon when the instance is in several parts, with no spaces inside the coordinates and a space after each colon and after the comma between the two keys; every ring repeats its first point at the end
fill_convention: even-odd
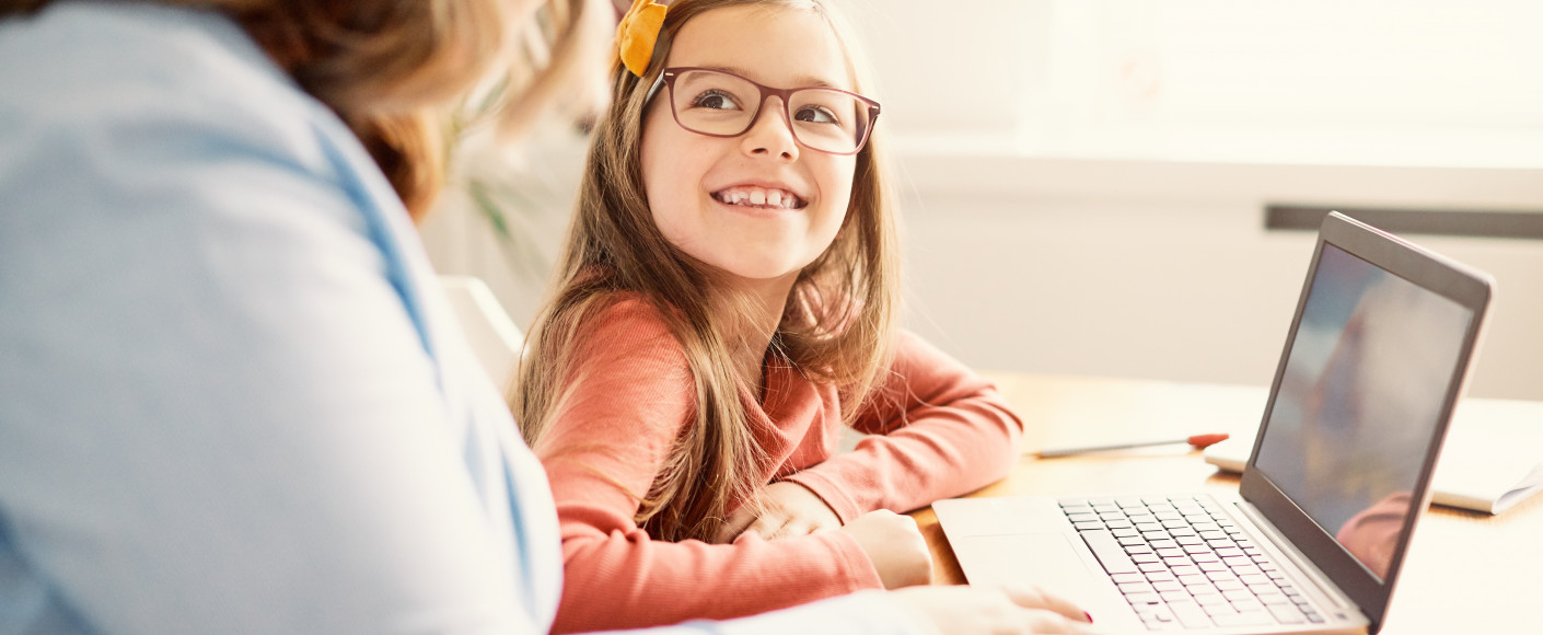
{"type": "MultiPolygon", "coordinates": [[[[804,11],[707,11],[680,28],[667,62],[773,88],[853,90],[835,34],[804,11]]],[[[659,230],[742,281],[792,283],[835,239],[852,198],[856,158],[799,145],[782,111],[779,97],[767,97],[742,136],[713,138],[676,124],[660,90],[643,117],[643,187],[659,230]]]]}

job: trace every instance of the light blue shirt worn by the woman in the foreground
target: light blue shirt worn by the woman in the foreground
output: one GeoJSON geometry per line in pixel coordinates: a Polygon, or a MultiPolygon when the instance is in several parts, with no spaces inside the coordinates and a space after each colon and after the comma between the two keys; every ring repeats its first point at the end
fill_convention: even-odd
{"type": "Polygon", "coordinates": [[[330,110],[218,14],[0,23],[0,633],[545,632],[560,573],[540,464],[330,110]]]}

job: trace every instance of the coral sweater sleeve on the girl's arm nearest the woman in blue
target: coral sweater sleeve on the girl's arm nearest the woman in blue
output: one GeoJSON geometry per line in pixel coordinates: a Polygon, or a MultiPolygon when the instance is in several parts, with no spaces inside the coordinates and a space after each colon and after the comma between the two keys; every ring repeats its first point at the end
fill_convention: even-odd
{"type": "Polygon", "coordinates": [[[565,400],[537,443],[563,536],[554,632],[734,618],[881,587],[841,531],[728,545],[651,539],[633,518],[693,413],[690,369],[637,300],[602,311],[579,340],[565,400]]]}

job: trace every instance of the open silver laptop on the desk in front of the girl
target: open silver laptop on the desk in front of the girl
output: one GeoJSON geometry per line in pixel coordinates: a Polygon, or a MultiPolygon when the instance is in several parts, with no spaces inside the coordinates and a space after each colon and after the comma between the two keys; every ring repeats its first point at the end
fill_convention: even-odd
{"type": "Polygon", "coordinates": [[[1330,213],[1236,496],[932,508],[971,584],[1037,584],[1114,632],[1375,633],[1492,286],[1330,213]]]}

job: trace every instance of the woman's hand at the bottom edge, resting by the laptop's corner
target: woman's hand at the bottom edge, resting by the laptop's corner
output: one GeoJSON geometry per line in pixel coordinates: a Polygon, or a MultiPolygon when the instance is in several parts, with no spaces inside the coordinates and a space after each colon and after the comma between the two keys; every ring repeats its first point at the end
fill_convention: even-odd
{"type": "Polygon", "coordinates": [[[910,587],[892,598],[940,633],[1092,633],[1088,613],[1032,587],[910,587]]]}

